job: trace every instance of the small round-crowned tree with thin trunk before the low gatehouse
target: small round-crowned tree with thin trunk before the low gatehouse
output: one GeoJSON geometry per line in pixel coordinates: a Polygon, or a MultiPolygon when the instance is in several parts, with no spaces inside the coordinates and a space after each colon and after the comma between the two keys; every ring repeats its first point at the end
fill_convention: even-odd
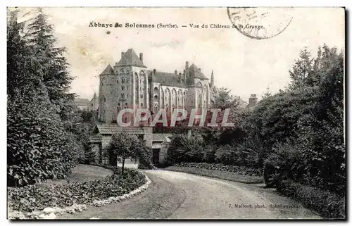
{"type": "Polygon", "coordinates": [[[145,163],[150,163],[149,149],[145,144],[137,138],[136,135],[121,132],[113,134],[111,141],[106,148],[106,154],[109,156],[110,164],[117,165],[117,160],[120,158],[122,162],[122,175],[124,174],[125,160],[140,160],[145,163]]]}

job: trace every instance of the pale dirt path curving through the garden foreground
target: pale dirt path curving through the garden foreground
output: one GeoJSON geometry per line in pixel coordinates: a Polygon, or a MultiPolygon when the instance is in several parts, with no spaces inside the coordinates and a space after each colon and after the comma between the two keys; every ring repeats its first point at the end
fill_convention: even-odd
{"type": "Polygon", "coordinates": [[[146,192],[122,203],[89,207],[61,219],[287,219],[320,218],[263,184],[241,184],[184,172],[146,170],[146,192]],[[276,205],[276,206],[275,206],[276,205]]]}

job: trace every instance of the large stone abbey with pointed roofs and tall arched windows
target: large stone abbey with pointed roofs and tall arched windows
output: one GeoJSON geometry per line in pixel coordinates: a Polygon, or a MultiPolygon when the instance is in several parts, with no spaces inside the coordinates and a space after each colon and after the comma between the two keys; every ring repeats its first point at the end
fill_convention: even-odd
{"type": "Polygon", "coordinates": [[[196,65],[186,61],[183,72],[165,73],[151,70],[143,63],[143,54],[133,49],[121,53],[121,59],[108,65],[100,74],[99,119],[105,123],[116,120],[123,108],[196,108],[198,112],[210,107],[214,75],[210,80],[196,65]]]}

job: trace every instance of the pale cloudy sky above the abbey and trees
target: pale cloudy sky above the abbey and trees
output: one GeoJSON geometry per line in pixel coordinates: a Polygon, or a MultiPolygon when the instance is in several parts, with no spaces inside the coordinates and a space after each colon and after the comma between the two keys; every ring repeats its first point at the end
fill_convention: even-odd
{"type": "Polygon", "coordinates": [[[284,89],[288,70],[303,46],[313,55],[323,43],[344,49],[343,8],[282,10],[292,17],[287,29],[259,40],[232,28],[189,27],[189,23],[232,25],[227,8],[44,8],[59,44],[68,50],[70,71],[76,77],[72,92],[81,98],[98,94],[99,74],[108,63],[120,60],[121,51],[132,48],[137,55],[144,54],[149,70],[183,72],[185,61],[195,63],[209,79],[214,70],[215,85],[231,89],[245,101],[250,94],[262,96],[267,87],[272,93],[284,89]],[[122,23],[123,27],[107,30],[89,27],[90,22],[122,23]],[[179,28],[126,28],[125,23],[171,23],[179,28]]]}

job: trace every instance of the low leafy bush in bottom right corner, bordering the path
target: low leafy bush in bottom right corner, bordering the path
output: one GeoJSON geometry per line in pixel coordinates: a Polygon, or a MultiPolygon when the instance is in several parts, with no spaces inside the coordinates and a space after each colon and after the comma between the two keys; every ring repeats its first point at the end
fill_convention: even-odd
{"type": "Polygon", "coordinates": [[[291,180],[283,180],[277,184],[277,191],[303,203],[306,208],[313,209],[329,219],[346,218],[346,197],[317,187],[298,184],[291,180]]]}

